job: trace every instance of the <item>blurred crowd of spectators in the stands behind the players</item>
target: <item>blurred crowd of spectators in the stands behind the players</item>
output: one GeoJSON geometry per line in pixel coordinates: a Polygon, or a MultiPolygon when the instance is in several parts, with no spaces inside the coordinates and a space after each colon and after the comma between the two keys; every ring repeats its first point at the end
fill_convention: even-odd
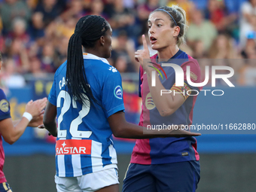
{"type": "MultiPolygon", "coordinates": [[[[138,72],[134,52],[148,33],[148,15],[162,5],[187,13],[187,44],[205,66],[231,66],[233,84],[256,84],[256,0],[0,0],[2,85],[23,87],[24,76],[47,77],[66,60],[69,38],[80,17],[105,17],[113,29],[112,66],[138,72]]],[[[148,47],[151,49],[149,41],[148,47]]],[[[154,54],[154,50],[151,50],[154,54]]]]}

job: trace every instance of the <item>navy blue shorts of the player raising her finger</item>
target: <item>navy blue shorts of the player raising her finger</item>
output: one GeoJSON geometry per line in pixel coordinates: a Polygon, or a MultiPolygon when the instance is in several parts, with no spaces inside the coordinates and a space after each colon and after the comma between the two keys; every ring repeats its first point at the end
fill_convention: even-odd
{"type": "Polygon", "coordinates": [[[199,161],[157,165],[131,163],[123,180],[123,192],[194,192],[199,180],[199,161]]]}

